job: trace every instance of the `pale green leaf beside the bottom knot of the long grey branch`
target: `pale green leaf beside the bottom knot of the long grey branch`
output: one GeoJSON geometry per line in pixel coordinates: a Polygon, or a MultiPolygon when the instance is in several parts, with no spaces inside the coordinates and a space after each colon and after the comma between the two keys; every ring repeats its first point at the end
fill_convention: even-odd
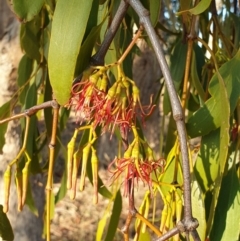
{"type": "Polygon", "coordinates": [[[206,239],[206,217],[205,217],[205,204],[204,204],[204,196],[199,186],[196,178],[192,175],[192,213],[193,217],[196,217],[199,222],[199,226],[197,228],[198,234],[201,240],[206,239]]]}

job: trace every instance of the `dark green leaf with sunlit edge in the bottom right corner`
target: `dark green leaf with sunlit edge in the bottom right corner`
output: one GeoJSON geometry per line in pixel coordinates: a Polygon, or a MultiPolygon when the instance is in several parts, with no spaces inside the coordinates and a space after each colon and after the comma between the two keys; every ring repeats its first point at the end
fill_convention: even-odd
{"type": "Polygon", "coordinates": [[[235,166],[222,180],[214,224],[210,234],[211,241],[239,240],[240,185],[235,166]]]}

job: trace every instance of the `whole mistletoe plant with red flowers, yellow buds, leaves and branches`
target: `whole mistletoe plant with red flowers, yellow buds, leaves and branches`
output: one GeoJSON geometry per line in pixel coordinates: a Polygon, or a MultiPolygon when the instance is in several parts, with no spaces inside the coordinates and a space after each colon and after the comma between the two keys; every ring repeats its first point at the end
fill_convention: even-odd
{"type": "MultiPolygon", "coordinates": [[[[22,148],[4,173],[3,212],[8,211],[13,172],[19,211],[31,199],[31,166],[44,171],[39,162],[33,162],[40,149],[35,145],[49,139],[44,217],[48,241],[52,205],[64,197],[66,188],[75,198],[79,170],[81,191],[87,175],[93,185],[93,202],[98,202],[100,193],[114,203],[108,227],[101,226],[105,232],[96,240],[114,239],[114,220],[119,220],[121,212],[121,186],[122,195],[129,200],[129,213],[121,229],[125,241],[130,239],[133,218],[134,240],[237,240],[238,1],[224,1],[219,11],[211,0],[177,1],[175,5],[167,0],[36,0],[21,5],[12,1],[10,5],[21,21],[24,56],[18,70],[19,89],[0,108],[1,148],[6,123],[21,117],[26,121],[22,123],[22,148]],[[165,23],[159,22],[160,15],[167,18],[165,23]],[[134,26],[138,31],[132,38],[134,26]],[[139,88],[131,77],[131,56],[138,52],[138,38],[144,38],[155,52],[165,81],[165,88],[153,93],[147,106],[141,103],[139,88]],[[172,50],[170,68],[162,45],[167,54],[172,50]],[[163,100],[163,122],[171,114],[165,148],[161,145],[159,150],[162,157],[156,158],[142,129],[157,111],[159,100],[163,100]],[[23,111],[12,116],[16,105],[23,111]],[[66,175],[54,197],[53,167],[70,109],[76,114],[78,127],[67,145],[66,175]],[[36,113],[42,110],[45,137],[35,131],[36,113]],[[98,175],[96,149],[98,138],[106,132],[116,135],[119,142],[119,151],[108,165],[108,185],[98,175]],[[194,137],[201,137],[201,141],[190,148],[188,140],[194,137]],[[139,183],[148,190],[137,210],[134,190],[139,183]],[[160,217],[156,212],[159,198],[164,203],[160,217]]],[[[163,140],[163,131],[161,135],[163,140]]],[[[4,229],[0,231],[4,236],[4,229]]]]}

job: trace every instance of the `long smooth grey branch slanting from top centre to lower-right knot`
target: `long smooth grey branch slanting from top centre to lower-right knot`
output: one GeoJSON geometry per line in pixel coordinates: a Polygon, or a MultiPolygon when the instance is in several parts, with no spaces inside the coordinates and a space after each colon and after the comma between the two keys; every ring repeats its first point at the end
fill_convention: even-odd
{"type": "MultiPolygon", "coordinates": [[[[170,102],[172,106],[172,112],[174,120],[176,121],[177,131],[179,135],[180,148],[182,153],[182,168],[184,175],[184,230],[194,230],[198,226],[198,222],[196,219],[192,217],[192,203],[191,203],[191,177],[190,177],[190,169],[189,169],[189,156],[188,156],[188,148],[187,148],[187,136],[186,136],[186,128],[184,123],[184,114],[181,107],[181,103],[179,101],[177,92],[175,90],[173,80],[169,71],[169,67],[167,65],[162,47],[158,40],[158,37],[152,27],[149,12],[143,7],[139,0],[128,0],[128,3],[132,6],[135,12],[138,14],[140,18],[140,24],[142,24],[149,36],[149,39],[152,43],[153,49],[156,53],[156,57],[162,69],[163,76],[166,81],[167,90],[170,97],[170,102]]],[[[174,234],[173,234],[174,235],[174,234]]],[[[164,240],[164,239],[162,239],[164,240]]],[[[195,238],[195,241],[200,240],[195,238]]]]}

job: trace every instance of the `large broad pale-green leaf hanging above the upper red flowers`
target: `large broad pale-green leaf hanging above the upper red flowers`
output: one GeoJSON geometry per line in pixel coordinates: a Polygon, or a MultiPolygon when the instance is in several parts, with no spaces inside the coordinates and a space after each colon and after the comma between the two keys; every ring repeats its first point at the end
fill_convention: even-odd
{"type": "Polygon", "coordinates": [[[58,0],[48,54],[50,83],[60,105],[68,102],[93,0],[58,0]]]}

